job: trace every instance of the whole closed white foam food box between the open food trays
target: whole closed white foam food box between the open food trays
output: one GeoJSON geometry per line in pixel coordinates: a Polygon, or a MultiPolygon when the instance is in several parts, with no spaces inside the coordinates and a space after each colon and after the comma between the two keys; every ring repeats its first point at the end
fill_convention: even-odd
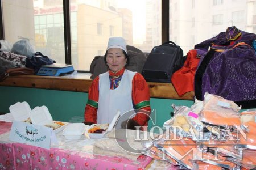
{"type": "Polygon", "coordinates": [[[65,139],[77,140],[80,139],[84,134],[85,127],[86,126],[84,123],[68,124],[65,126],[62,134],[65,136],[65,139]]]}

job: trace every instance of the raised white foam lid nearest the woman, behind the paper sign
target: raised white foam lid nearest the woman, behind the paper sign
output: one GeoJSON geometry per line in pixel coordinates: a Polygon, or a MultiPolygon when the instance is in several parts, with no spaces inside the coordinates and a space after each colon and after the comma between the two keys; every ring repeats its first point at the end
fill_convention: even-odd
{"type": "Polygon", "coordinates": [[[32,124],[42,126],[50,124],[53,121],[48,108],[44,105],[42,107],[35,107],[30,112],[30,119],[32,124]]]}

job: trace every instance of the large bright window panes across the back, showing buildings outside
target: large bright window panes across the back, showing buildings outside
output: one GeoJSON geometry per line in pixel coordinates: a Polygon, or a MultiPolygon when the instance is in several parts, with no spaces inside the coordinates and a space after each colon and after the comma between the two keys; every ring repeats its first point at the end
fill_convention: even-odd
{"type": "MultiPolygon", "coordinates": [[[[256,24],[256,1],[241,0],[226,5],[224,0],[192,0],[185,6],[186,0],[173,0],[169,1],[170,13],[164,14],[170,16],[169,30],[162,32],[161,2],[69,0],[69,43],[75,69],[88,71],[94,56],[101,50],[105,53],[111,36],[123,36],[127,44],[150,52],[162,42],[162,35],[169,33],[170,40],[179,42],[186,53],[195,44],[225,31],[230,20],[234,20],[234,25],[240,30],[255,30],[251,24],[256,24]],[[188,41],[192,36],[195,44],[188,41]]],[[[58,63],[65,62],[63,0],[2,0],[2,7],[7,41],[14,44],[19,40],[18,36],[28,37],[36,51],[58,63]]]]}

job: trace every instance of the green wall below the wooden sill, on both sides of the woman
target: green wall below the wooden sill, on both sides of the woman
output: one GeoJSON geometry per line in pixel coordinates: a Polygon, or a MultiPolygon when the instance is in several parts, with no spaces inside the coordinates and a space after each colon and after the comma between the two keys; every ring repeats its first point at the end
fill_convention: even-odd
{"type": "MultiPolygon", "coordinates": [[[[10,105],[18,101],[27,101],[31,109],[45,105],[53,120],[69,122],[73,117],[84,117],[87,99],[88,94],[84,92],[0,86],[0,112],[2,113],[9,113],[10,105]]],[[[156,112],[156,124],[154,126],[163,126],[163,123],[171,118],[171,112],[173,112],[171,105],[173,103],[190,107],[193,101],[150,99],[151,108],[155,109],[156,112]]],[[[151,128],[153,126],[152,121],[148,125],[151,128]]]]}

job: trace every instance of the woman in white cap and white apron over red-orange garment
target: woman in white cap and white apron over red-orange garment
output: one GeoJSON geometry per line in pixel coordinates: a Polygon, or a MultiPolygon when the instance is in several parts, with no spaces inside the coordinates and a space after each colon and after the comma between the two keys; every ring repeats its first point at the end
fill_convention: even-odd
{"type": "Polygon", "coordinates": [[[117,110],[121,111],[122,116],[128,111],[143,109],[147,114],[135,113],[133,118],[126,121],[126,128],[147,126],[148,113],[151,112],[149,88],[141,74],[125,69],[129,57],[122,37],[109,39],[104,60],[109,70],[97,76],[90,86],[85,124],[110,124],[117,110]]]}

